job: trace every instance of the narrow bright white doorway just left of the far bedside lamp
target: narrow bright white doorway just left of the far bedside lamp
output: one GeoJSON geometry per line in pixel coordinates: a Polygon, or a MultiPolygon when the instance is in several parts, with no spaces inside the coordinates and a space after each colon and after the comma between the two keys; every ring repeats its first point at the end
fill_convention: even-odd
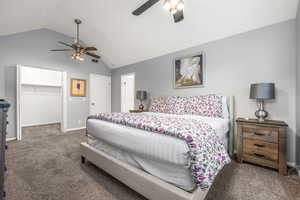
{"type": "Polygon", "coordinates": [[[134,109],[135,74],[121,76],[121,111],[129,112],[134,109]]]}

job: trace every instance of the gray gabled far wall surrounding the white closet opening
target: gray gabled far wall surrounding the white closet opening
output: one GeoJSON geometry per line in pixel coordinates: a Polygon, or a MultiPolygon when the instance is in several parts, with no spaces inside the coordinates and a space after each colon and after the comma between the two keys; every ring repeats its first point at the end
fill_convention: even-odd
{"type": "MultiPolygon", "coordinates": [[[[0,37],[0,97],[8,98],[13,105],[10,111],[8,137],[16,135],[14,128],[16,124],[13,117],[16,99],[13,92],[15,77],[11,73],[10,67],[14,68],[16,64],[20,64],[63,70],[68,72],[69,77],[74,78],[88,78],[89,73],[110,74],[110,69],[102,62],[95,64],[89,58],[83,62],[77,62],[70,59],[70,53],[50,52],[50,49],[65,48],[57,41],[73,42],[72,38],[48,29],[0,37]]],[[[82,127],[83,124],[78,124],[78,120],[85,121],[87,112],[88,98],[85,101],[79,100],[79,98],[69,98],[67,128],[82,127]]]]}

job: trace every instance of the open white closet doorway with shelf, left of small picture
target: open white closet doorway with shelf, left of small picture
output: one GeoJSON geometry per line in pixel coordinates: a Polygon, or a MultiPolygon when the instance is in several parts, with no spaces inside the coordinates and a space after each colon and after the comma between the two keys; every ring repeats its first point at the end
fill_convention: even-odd
{"type": "Polygon", "coordinates": [[[66,123],[66,72],[17,67],[17,139],[22,128],[66,123]]]}

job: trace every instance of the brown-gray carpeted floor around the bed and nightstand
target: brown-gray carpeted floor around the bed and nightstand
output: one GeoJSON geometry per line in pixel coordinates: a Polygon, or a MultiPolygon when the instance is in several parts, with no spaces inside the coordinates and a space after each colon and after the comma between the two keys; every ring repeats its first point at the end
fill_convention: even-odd
{"type": "MultiPolygon", "coordinates": [[[[7,200],[145,200],[91,163],[82,165],[78,149],[84,140],[83,132],[62,134],[58,126],[25,128],[21,142],[8,144],[7,200]]],[[[300,180],[233,162],[207,200],[239,199],[300,199],[300,180]]]]}

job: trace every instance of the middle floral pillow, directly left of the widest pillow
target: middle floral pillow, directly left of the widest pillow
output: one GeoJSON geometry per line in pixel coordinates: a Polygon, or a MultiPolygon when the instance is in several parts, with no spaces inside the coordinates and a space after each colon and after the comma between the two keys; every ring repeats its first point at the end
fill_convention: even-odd
{"type": "Polygon", "coordinates": [[[168,97],[166,99],[165,113],[184,114],[185,113],[185,97],[168,97]]]}

